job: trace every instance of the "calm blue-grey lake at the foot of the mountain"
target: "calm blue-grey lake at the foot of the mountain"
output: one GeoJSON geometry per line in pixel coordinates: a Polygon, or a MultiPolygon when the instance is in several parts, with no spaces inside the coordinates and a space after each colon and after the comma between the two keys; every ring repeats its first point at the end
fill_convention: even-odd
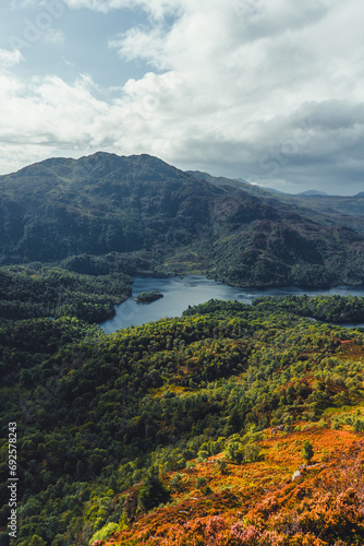
{"type": "MultiPolygon", "coordinates": [[[[132,296],[123,304],[116,306],[117,314],[100,324],[104,332],[112,333],[121,328],[138,327],[166,317],[180,317],[189,306],[204,304],[209,299],[238,300],[251,304],[259,296],[289,296],[289,295],[332,296],[364,296],[364,286],[336,286],[329,289],[307,290],[296,287],[284,288],[236,288],[218,281],[199,275],[185,275],[167,278],[134,277],[132,296]],[[136,304],[134,298],[142,292],[160,290],[163,298],[150,304],[136,304]]],[[[347,325],[347,324],[345,324],[347,325]]],[[[353,324],[352,324],[353,325],[353,324]]],[[[355,324],[363,327],[364,324],[355,324]]]]}

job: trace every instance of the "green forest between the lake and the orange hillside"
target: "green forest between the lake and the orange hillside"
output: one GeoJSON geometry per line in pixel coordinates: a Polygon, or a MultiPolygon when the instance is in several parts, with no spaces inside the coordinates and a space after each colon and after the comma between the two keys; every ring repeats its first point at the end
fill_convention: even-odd
{"type": "MultiPolygon", "coordinates": [[[[129,521],[137,507],[168,501],[155,468],[193,474],[197,454],[223,451],[250,463],[267,427],[323,415],[339,423],[326,410],[339,395],[350,408],[363,392],[363,361],[347,358],[347,340],[362,351],[360,331],[289,314],[280,302],[274,312],[209,301],[110,335],[76,318],[3,323],[0,475],[5,484],[8,423],[16,420],[20,544],[33,535],[47,546],[80,536],[88,544],[122,514],[129,521]]],[[[361,415],[349,415],[340,426],[361,428],[361,415]]],[[[7,502],[7,490],[0,495],[7,502]]]]}

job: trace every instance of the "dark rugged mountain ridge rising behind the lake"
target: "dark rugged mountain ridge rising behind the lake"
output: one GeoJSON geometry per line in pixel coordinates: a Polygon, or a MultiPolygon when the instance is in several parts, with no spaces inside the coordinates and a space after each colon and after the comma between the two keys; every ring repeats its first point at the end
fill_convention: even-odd
{"type": "Polygon", "coordinates": [[[0,263],[199,272],[238,286],[363,284],[363,218],[342,222],[329,199],[278,195],[149,155],[51,158],[0,177],[0,263]]]}

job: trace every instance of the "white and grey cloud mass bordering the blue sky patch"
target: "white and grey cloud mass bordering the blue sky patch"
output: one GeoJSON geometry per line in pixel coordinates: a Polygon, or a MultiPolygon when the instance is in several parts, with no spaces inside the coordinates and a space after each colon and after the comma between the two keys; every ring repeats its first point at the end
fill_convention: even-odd
{"type": "Polygon", "coordinates": [[[85,76],[68,84],[57,76],[8,79],[2,142],[22,134],[45,154],[146,152],[292,191],[330,185],[352,191],[362,182],[360,0],[64,3],[104,13],[143,9],[145,24],[110,37],[109,48],[149,71],[113,99],[85,76]]]}

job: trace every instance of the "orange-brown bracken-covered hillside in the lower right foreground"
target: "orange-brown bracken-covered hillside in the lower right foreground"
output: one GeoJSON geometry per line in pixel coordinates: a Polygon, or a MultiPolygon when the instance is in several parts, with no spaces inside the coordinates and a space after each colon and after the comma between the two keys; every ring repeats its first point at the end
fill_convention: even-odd
{"type": "MultiPolygon", "coordinates": [[[[163,483],[171,489],[167,506],[129,525],[123,522],[123,531],[116,525],[110,533],[109,525],[104,530],[109,538],[94,544],[363,544],[363,435],[307,424],[296,429],[267,430],[254,444],[260,460],[236,464],[220,453],[166,474],[163,483]],[[307,441],[314,459],[305,465],[302,447],[307,441]]],[[[129,499],[133,495],[135,489],[125,491],[129,499]]]]}

